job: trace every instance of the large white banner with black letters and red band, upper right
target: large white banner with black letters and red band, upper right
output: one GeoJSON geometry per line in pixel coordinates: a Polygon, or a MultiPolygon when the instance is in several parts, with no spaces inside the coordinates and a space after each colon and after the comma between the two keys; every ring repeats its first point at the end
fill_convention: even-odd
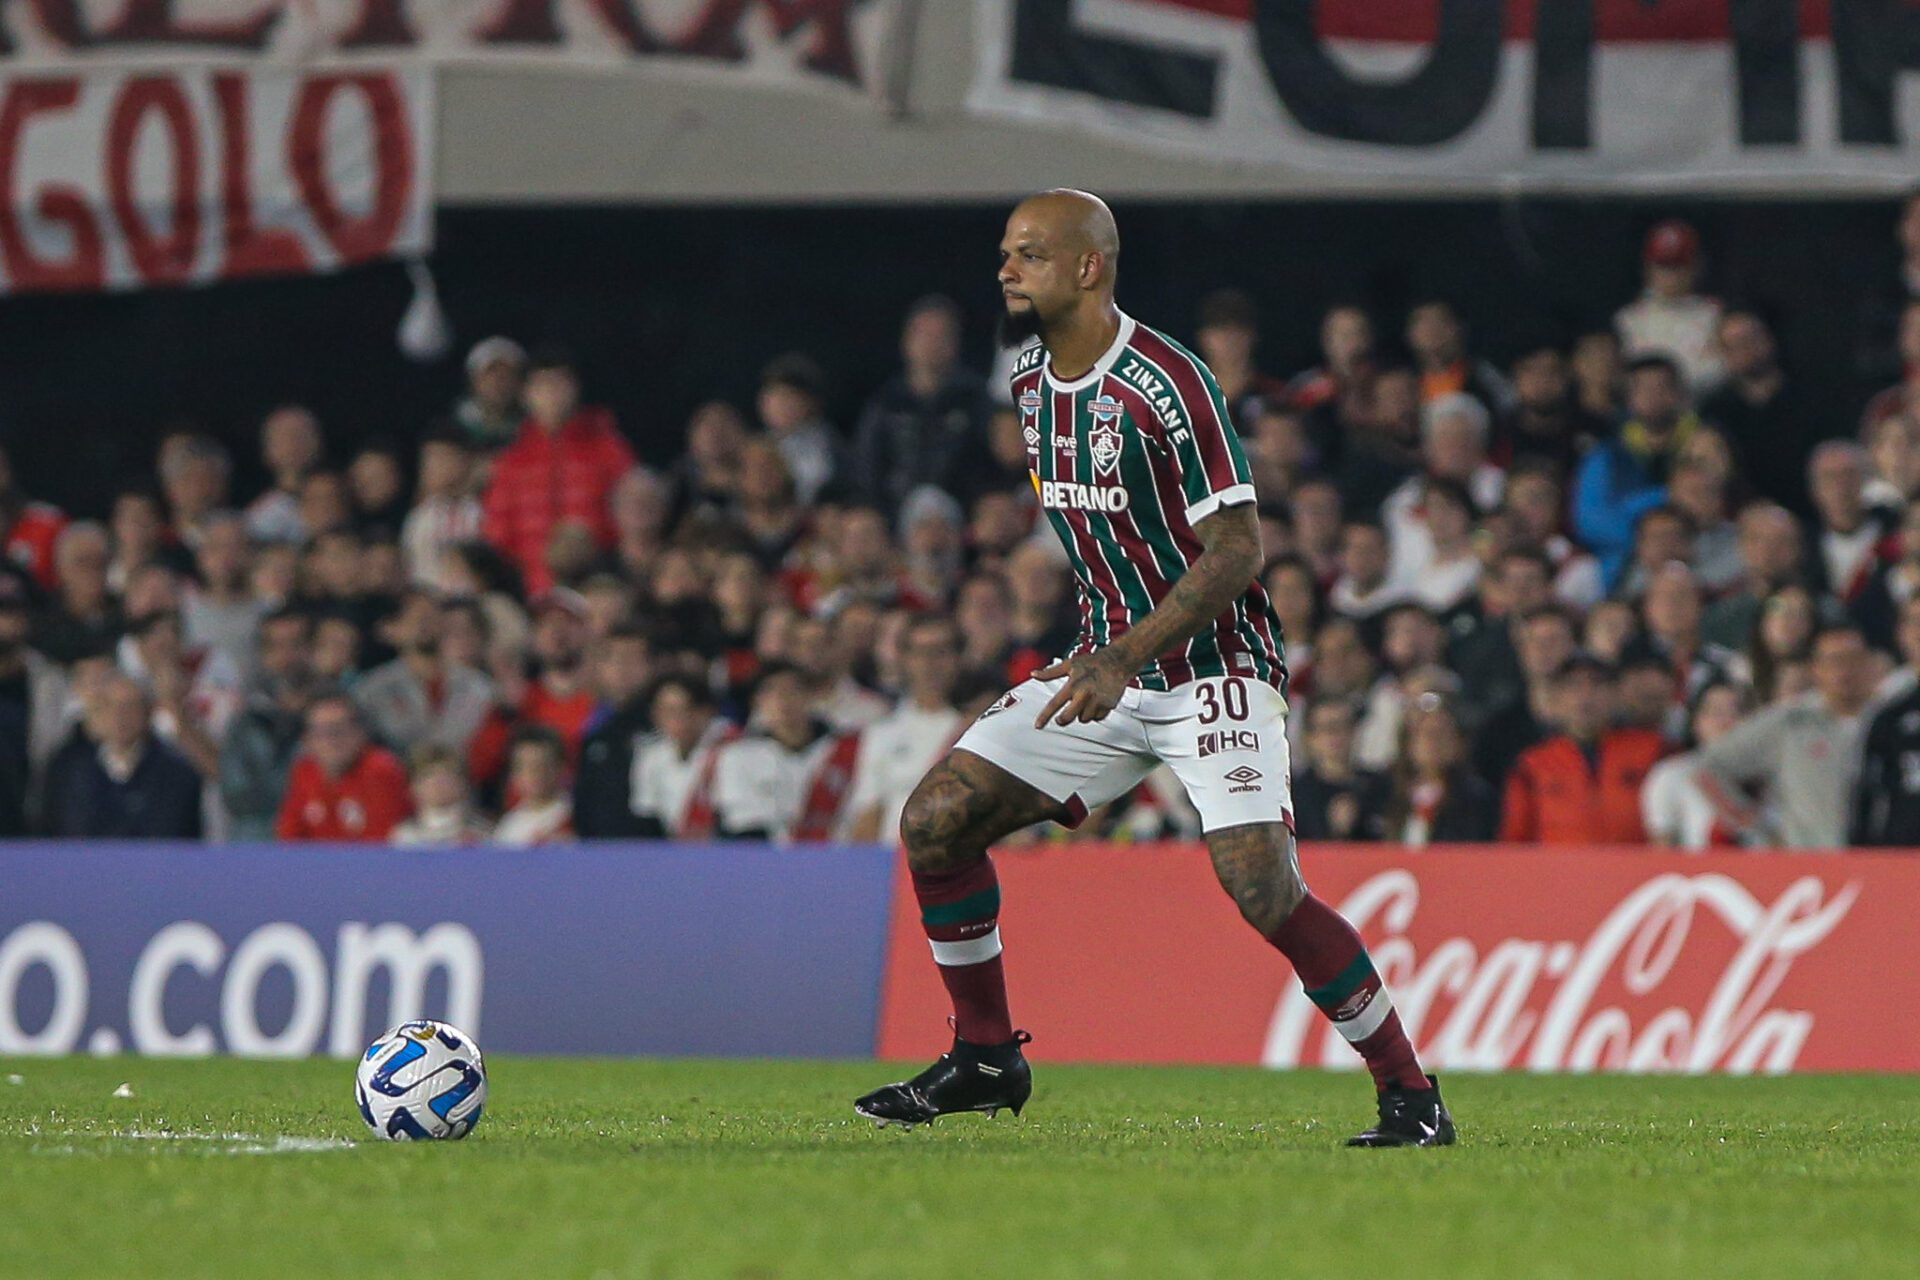
{"type": "Polygon", "coordinates": [[[1905,0],[975,0],[979,113],[1284,192],[1905,190],[1905,0]]]}

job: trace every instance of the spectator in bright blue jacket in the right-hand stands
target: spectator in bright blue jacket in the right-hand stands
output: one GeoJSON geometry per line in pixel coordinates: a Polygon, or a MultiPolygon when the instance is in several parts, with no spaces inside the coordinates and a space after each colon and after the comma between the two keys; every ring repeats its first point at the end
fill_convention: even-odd
{"type": "Polygon", "coordinates": [[[1624,570],[1642,512],[1667,501],[1672,464],[1699,428],[1686,407],[1680,367],[1665,355],[1644,355],[1628,367],[1626,413],[1619,434],[1580,462],[1572,499],[1574,530],[1599,557],[1607,587],[1624,570]]]}

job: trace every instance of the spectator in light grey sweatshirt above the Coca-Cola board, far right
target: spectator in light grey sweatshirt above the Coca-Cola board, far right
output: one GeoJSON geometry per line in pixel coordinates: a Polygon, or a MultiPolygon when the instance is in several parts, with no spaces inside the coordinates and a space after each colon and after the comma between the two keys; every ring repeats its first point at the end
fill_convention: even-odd
{"type": "Polygon", "coordinates": [[[1862,712],[1872,695],[1866,639],[1851,624],[1812,641],[1812,691],[1768,706],[1701,750],[1699,787],[1749,844],[1839,848],[1855,816],[1862,712]],[[1745,800],[1757,789],[1759,806],[1745,800]]]}

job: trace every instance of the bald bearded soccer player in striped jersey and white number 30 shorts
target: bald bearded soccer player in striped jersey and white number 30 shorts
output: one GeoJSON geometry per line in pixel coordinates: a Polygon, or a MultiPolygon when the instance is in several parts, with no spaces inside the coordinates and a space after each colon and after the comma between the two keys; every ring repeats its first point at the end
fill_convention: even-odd
{"type": "Polygon", "coordinates": [[[1200,810],[1240,915],[1292,961],[1359,1050],[1379,1123],[1350,1146],[1444,1146],[1453,1121],[1421,1071],[1359,935],[1308,892],[1294,856],[1281,624],[1258,581],[1260,520],[1219,386],[1114,305],[1119,232],[1094,196],[1014,209],[1000,242],[1027,464],[1079,580],[1073,649],[1002,695],[927,771],[900,839],[954,1046],[854,1109],[881,1125],[1010,1107],[1033,1092],[1000,969],[987,848],[1127,793],[1167,764],[1200,810]]]}

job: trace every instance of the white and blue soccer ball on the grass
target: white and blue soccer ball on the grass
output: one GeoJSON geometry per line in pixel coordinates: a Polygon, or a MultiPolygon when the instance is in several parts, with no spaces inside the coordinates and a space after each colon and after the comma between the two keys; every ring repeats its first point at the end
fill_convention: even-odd
{"type": "Polygon", "coordinates": [[[486,1107],[480,1046],[459,1027],[401,1023],[361,1054],[353,1102],[367,1128],[392,1142],[465,1138],[486,1107]]]}

